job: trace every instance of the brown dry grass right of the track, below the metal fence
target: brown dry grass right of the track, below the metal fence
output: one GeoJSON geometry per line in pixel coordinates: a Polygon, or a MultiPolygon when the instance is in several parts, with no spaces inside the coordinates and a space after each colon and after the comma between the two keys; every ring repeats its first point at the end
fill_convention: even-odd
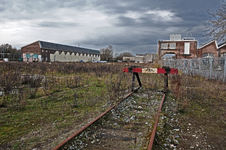
{"type": "Polygon", "coordinates": [[[183,131],[178,148],[224,149],[225,83],[180,74],[171,77],[170,89],[177,99],[179,125],[183,131]]]}

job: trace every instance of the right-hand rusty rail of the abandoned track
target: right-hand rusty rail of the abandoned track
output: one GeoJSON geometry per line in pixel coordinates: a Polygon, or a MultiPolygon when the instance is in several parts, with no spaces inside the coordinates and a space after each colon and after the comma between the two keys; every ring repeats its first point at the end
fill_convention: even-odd
{"type": "Polygon", "coordinates": [[[159,109],[158,109],[158,113],[157,113],[156,120],[155,120],[155,125],[154,125],[154,128],[153,128],[152,133],[151,133],[150,142],[148,144],[148,150],[152,149],[152,146],[153,146],[153,143],[154,143],[155,133],[156,133],[156,130],[157,130],[157,127],[158,127],[159,115],[160,115],[160,112],[161,112],[162,105],[163,105],[163,102],[165,100],[165,97],[166,97],[166,93],[163,95],[161,104],[160,104],[159,109]]]}

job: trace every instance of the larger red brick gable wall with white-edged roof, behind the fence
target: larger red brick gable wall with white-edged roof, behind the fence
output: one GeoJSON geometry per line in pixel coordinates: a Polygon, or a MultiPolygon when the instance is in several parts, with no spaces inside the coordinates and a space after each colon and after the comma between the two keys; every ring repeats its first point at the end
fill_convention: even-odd
{"type": "Polygon", "coordinates": [[[218,57],[218,52],[217,52],[217,47],[216,47],[215,41],[200,48],[198,50],[198,53],[199,53],[198,54],[199,58],[202,58],[203,54],[205,54],[205,53],[212,53],[212,54],[214,54],[215,57],[218,57]]]}

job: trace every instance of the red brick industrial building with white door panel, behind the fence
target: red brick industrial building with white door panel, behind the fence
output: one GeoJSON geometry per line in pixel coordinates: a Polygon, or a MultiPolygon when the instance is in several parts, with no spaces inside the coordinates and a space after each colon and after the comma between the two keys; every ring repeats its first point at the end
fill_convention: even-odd
{"type": "Polygon", "coordinates": [[[226,56],[226,43],[217,45],[217,41],[210,41],[197,48],[194,37],[181,39],[180,34],[171,34],[170,40],[158,42],[158,56],[161,59],[165,54],[175,54],[176,59],[194,59],[226,56]]]}

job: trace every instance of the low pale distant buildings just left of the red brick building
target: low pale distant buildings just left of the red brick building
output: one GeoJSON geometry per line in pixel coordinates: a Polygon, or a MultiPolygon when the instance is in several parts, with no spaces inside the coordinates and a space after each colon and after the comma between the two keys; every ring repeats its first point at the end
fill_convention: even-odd
{"type": "Polygon", "coordinates": [[[153,62],[157,58],[156,54],[136,54],[135,57],[123,57],[123,61],[135,62],[135,63],[149,63],[153,62]]]}

